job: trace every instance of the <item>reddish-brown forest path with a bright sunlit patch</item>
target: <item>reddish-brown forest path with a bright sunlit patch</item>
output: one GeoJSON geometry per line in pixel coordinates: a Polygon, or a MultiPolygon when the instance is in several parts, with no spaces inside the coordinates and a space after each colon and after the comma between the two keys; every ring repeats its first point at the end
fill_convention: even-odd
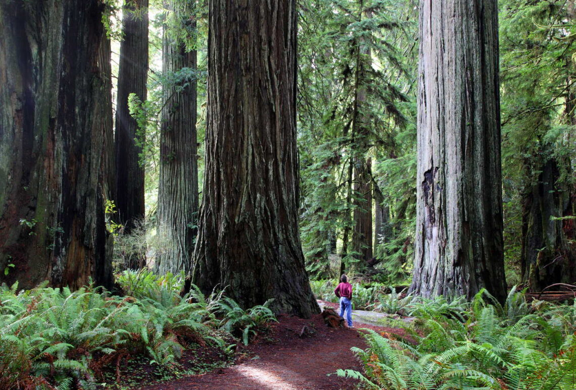
{"type": "MultiPolygon", "coordinates": [[[[337,304],[319,301],[320,305],[337,304]]],[[[354,315],[355,328],[330,328],[321,315],[301,319],[281,315],[270,331],[240,351],[234,365],[208,373],[189,375],[175,381],[142,385],[134,389],[259,389],[259,390],[328,390],[354,389],[358,381],[336,376],[337,369],[362,371],[361,363],[351,347],[365,348],[358,327],[378,332],[400,334],[398,328],[366,323],[354,315]],[[361,323],[362,322],[362,323],[361,323]],[[302,333],[302,330],[304,332],[302,333]],[[302,334],[301,334],[302,333],[302,334]],[[330,374],[330,375],[328,375],[330,374]]],[[[377,316],[376,316],[377,317],[377,316]]]]}

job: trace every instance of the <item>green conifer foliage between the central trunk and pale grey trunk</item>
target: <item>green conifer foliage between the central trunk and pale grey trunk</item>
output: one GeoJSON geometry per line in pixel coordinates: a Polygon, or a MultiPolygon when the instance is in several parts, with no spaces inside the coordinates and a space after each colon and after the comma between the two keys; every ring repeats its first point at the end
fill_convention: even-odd
{"type": "MultiPolygon", "coordinates": [[[[375,191],[382,188],[383,201],[391,205],[392,234],[380,240],[377,257],[395,272],[402,270],[400,263],[410,262],[412,239],[407,235],[412,235],[408,228],[414,217],[415,127],[411,121],[415,112],[407,101],[414,98],[409,70],[415,62],[407,54],[414,48],[416,21],[406,18],[411,6],[411,2],[386,0],[299,2],[301,238],[313,278],[337,273],[331,264],[335,243],[341,245],[342,261],[348,267],[363,267],[351,250],[354,208],[363,198],[354,189],[358,161],[374,162],[369,180],[375,191]],[[401,49],[404,44],[411,48],[401,49]],[[401,192],[381,182],[381,171],[376,169],[380,160],[395,159],[398,164],[388,161],[388,166],[396,167],[391,176],[397,174],[409,183],[401,186],[401,192]],[[407,171],[407,166],[412,169],[407,171]],[[399,248],[384,250],[391,241],[399,248]]],[[[404,271],[392,278],[405,278],[404,271]]]]}

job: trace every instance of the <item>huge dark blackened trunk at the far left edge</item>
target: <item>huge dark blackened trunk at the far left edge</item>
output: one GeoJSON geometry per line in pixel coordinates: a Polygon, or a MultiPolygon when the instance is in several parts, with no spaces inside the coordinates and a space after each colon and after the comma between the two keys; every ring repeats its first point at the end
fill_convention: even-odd
{"type": "Polygon", "coordinates": [[[112,284],[102,10],[98,0],[0,3],[0,268],[14,264],[0,277],[22,288],[112,284]]]}

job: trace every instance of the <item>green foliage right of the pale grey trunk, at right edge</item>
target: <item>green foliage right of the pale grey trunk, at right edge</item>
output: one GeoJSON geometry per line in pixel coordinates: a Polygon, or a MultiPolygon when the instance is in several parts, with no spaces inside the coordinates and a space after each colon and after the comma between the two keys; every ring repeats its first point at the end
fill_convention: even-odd
{"type": "MultiPolygon", "coordinates": [[[[527,240],[535,224],[530,201],[536,185],[545,181],[541,174],[547,164],[556,172],[554,182],[545,184],[564,205],[548,205],[540,217],[545,221],[575,211],[573,205],[564,208],[575,193],[571,140],[576,131],[576,30],[569,2],[502,0],[499,9],[504,238],[510,284],[520,282],[522,250],[532,250],[522,248],[522,237],[527,240]]],[[[556,242],[541,239],[543,258],[563,255],[556,242]]]]}

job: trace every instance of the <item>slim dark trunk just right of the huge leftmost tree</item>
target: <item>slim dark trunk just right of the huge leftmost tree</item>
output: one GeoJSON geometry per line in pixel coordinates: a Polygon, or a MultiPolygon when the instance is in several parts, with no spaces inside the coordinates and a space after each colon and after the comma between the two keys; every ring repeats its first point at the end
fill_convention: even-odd
{"type": "MultiPolygon", "coordinates": [[[[116,104],[116,191],[118,223],[124,225],[124,234],[130,234],[142,220],[144,207],[144,167],[139,164],[142,147],[135,142],[137,122],[128,109],[128,95],[134,93],[146,100],[148,75],[148,0],[124,0],[122,17],[122,43],[118,67],[118,101],[116,104]]],[[[143,129],[141,129],[143,131],[143,129]]],[[[142,137],[142,134],[139,135],[142,137]]],[[[142,266],[142,259],[131,257],[126,264],[130,269],[142,266]]]]}

